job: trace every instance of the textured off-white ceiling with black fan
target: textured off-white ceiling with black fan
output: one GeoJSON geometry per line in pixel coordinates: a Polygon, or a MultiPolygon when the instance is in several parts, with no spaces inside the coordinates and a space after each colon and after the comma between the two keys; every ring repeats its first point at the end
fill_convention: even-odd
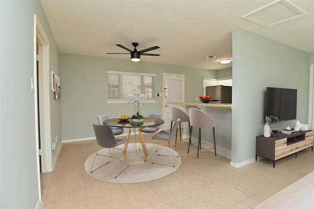
{"type": "Polygon", "coordinates": [[[305,15],[271,27],[242,17],[275,0],[40,1],[60,52],[130,59],[106,52],[127,52],[115,44],[133,50],[138,42],[138,51],[160,47],[147,52],[160,56],[141,56],[141,62],[220,70],[232,66],[218,60],[232,58],[237,27],[314,52],[314,0],[289,0],[305,15]],[[211,55],[216,58],[206,58],[211,55]]]}

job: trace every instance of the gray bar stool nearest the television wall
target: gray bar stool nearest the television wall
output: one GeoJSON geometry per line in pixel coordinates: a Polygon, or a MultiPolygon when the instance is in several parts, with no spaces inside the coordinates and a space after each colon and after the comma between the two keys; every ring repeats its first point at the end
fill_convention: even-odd
{"type": "MultiPolygon", "coordinates": [[[[197,159],[199,157],[199,151],[201,150],[207,150],[209,149],[214,149],[215,150],[215,156],[216,156],[216,139],[215,139],[215,122],[209,117],[206,112],[197,109],[197,108],[190,108],[189,109],[189,115],[190,115],[190,122],[191,122],[191,131],[190,131],[190,140],[191,140],[191,135],[192,135],[192,130],[193,127],[199,127],[199,132],[198,132],[198,146],[197,146],[197,159]],[[214,146],[211,144],[207,144],[205,142],[201,141],[201,129],[202,128],[212,128],[212,134],[213,134],[213,140],[214,140],[214,146]],[[211,146],[212,148],[209,149],[202,149],[201,143],[207,144],[211,146]]],[[[190,143],[191,144],[191,141],[190,143]]],[[[188,146],[187,150],[187,156],[190,151],[190,146],[188,146]]]]}

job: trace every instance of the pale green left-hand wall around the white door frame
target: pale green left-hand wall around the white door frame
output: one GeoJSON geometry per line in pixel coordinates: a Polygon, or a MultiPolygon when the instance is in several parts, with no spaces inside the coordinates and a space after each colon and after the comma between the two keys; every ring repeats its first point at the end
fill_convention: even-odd
{"type": "MultiPolygon", "coordinates": [[[[34,15],[59,54],[39,0],[0,0],[0,208],[40,207],[35,132],[34,15]]],[[[51,104],[52,131],[61,137],[60,104],[51,104]],[[59,133],[57,133],[59,132],[59,133]]]]}

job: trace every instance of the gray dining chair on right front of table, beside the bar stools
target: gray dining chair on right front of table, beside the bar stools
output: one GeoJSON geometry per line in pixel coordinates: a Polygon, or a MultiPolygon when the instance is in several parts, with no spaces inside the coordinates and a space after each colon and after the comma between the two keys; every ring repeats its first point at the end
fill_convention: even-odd
{"type": "Polygon", "coordinates": [[[159,133],[157,133],[156,135],[154,135],[152,137],[152,139],[153,139],[153,146],[152,146],[151,160],[152,160],[153,164],[167,165],[167,164],[160,164],[160,163],[154,162],[154,160],[153,160],[153,151],[155,150],[155,152],[157,153],[157,156],[173,157],[174,164],[173,165],[167,165],[167,166],[171,166],[171,167],[176,167],[177,166],[177,163],[175,161],[176,161],[176,157],[179,157],[179,156],[175,156],[174,155],[172,142],[171,141],[174,139],[174,137],[175,137],[175,135],[177,133],[179,124],[180,124],[180,118],[178,118],[178,120],[175,122],[175,124],[173,125],[173,128],[172,128],[172,130],[170,132],[161,130],[159,133]],[[155,149],[155,146],[156,146],[155,145],[155,140],[157,140],[157,149],[155,149]],[[158,144],[159,144],[158,141],[169,142],[169,144],[171,145],[172,156],[158,154],[158,151],[164,147],[162,145],[160,148],[158,148],[158,144]]]}

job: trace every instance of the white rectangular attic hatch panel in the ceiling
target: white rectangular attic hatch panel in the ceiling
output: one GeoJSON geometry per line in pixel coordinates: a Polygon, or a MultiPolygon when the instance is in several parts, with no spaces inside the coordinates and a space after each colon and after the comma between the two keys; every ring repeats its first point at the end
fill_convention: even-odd
{"type": "Polygon", "coordinates": [[[305,15],[305,12],[288,0],[276,0],[244,15],[243,18],[261,26],[271,27],[303,15],[305,15]]]}

